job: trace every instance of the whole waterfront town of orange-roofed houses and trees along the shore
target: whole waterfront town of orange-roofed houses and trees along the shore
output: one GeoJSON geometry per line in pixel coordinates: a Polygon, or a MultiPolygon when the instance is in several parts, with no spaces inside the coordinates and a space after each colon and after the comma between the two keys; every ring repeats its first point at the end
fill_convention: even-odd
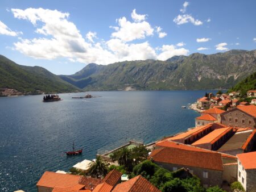
{"type": "Polygon", "coordinates": [[[256,90],[243,99],[250,102],[241,101],[239,92],[206,93],[191,106],[200,111],[195,127],[150,144],[129,141],[95,160],[78,162],[69,173],[47,171],[36,184],[38,191],[188,191],[173,181],[193,179],[199,186],[191,191],[254,192],[255,98],[256,90]],[[128,152],[138,149],[130,167],[128,152]]]}

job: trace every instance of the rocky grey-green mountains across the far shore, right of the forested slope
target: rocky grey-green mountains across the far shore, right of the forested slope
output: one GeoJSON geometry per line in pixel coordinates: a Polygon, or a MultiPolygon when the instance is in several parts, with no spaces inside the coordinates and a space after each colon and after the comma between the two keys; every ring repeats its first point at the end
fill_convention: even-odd
{"type": "Polygon", "coordinates": [[[89,64],[63,80],[84,90],[229,89],[256,71],[256,51],[174,56],[166,61],[89,64]]]}

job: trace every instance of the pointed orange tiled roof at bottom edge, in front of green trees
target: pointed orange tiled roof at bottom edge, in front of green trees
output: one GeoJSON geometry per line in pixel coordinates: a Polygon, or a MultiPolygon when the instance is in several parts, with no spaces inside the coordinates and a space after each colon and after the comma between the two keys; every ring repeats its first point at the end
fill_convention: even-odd
{"type": "Polygon", "coordinates": [[[132,178],[129,181],[118,184],[113,192],[160,192],[158,188],[152,185],[149,181],[141,175],[132,178]]]}

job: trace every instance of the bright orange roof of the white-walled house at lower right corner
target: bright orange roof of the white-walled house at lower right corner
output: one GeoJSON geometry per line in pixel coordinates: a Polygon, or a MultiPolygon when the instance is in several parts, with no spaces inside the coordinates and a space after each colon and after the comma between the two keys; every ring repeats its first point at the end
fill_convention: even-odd
{"type": "Polygon", "coordinates": [[[243,168],[256,169],[256,152],[241,153],[237,157],[241,161],[243,168]]]}

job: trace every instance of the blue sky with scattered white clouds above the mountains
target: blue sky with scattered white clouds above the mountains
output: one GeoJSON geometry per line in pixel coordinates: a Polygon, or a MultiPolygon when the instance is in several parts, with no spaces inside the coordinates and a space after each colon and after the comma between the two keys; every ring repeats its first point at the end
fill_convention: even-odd
{"type": "Polygon", "coordinates": [[[0,55],[73,74],[89,63],[256,49],[256,1],[0,1],[0,55]]]}

